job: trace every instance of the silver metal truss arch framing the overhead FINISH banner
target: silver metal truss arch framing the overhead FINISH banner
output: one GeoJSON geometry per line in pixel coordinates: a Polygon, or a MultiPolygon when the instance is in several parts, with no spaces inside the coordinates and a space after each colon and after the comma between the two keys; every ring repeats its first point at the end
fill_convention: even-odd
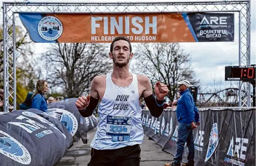
{"type": "MultiPolygon", "coordinates": [[[[58,2],[3,2],[4,39],[4,112],[16,108],[16,53],[15,14],[19,12],[237,12],[239,13],[239,65],[250,65],[250,1],[218,0],[197,2],[129,2],[129,3],[58,3],[58,2]],[[13,64],[13,65],[12,65],[13,64]],[[9,103],[9,99],[13,103],[9,103]]],[[[223,53],[224,55],[225,53],[223,53]]],[[[224,68],[223,68],[224,70],[224,68]]],[[[239,83],[239,106],[251,106],[249,83],[239,83]]]]}

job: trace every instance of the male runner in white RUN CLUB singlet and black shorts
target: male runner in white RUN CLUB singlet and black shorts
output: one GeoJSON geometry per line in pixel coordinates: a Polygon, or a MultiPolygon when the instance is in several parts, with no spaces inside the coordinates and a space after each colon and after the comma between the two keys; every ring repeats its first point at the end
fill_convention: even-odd
{"type": "Polygon", "coordinates": [[[91,116],[99,100],[99,124],[91,141],[88,166],[139,166],[143,141],[140,102],[144,98],[152,116],[164,109],[168,88],[159,81],[153,95],[149,78],[129,72],[132,46],[125,37],[116,37],[110,45],[113,72],[96,76],[91,94],[79,97],[75,105],[83,117],[91,116]]]}

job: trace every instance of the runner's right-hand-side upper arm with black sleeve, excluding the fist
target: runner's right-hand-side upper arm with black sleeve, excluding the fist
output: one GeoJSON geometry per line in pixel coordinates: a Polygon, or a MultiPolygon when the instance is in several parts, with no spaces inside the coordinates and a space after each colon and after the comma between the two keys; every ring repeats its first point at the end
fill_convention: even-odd
{"type": "Polygon", "coordinates": [[[145,87],[145,91],[143,91],[143,97],[146,105],[149,108],[149,112],[152,116],[158,118],[164,111],[164,100],[158,100],[155,97],[149,82],[149,78],[147,76],[143,75],[141,77],[141,83],[143,87],[145,87]]]}

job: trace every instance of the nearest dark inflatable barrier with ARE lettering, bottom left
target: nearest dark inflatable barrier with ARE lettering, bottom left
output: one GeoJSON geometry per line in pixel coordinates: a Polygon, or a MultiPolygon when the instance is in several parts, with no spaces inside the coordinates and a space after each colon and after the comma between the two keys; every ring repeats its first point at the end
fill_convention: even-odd
{"type": "Polygon", "coordinates": [[[67,128],[40,110],[0,115],[0,166],[53,166],[72,142],[67,128]]]}

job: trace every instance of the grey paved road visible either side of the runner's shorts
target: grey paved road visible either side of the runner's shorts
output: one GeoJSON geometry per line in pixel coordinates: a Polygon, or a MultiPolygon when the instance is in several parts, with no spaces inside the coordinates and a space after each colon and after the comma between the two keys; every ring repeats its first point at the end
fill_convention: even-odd
{"type": "MultiPolygon", "coordinates": [[[[74,145],[66,152],[65,156],[55,166],[87,166],[90,161],[90,143],[94,136],[96,128],[89,131],[88,144],[83,144],[82,141],[74,143],[74,145]]],[[[140,166],[164,166],[165,163],[171,163],[173,156],[161,150],[153,140],[149,140],[148,136],[144,135],[141,148],[141,163],[140,166]]]]}

